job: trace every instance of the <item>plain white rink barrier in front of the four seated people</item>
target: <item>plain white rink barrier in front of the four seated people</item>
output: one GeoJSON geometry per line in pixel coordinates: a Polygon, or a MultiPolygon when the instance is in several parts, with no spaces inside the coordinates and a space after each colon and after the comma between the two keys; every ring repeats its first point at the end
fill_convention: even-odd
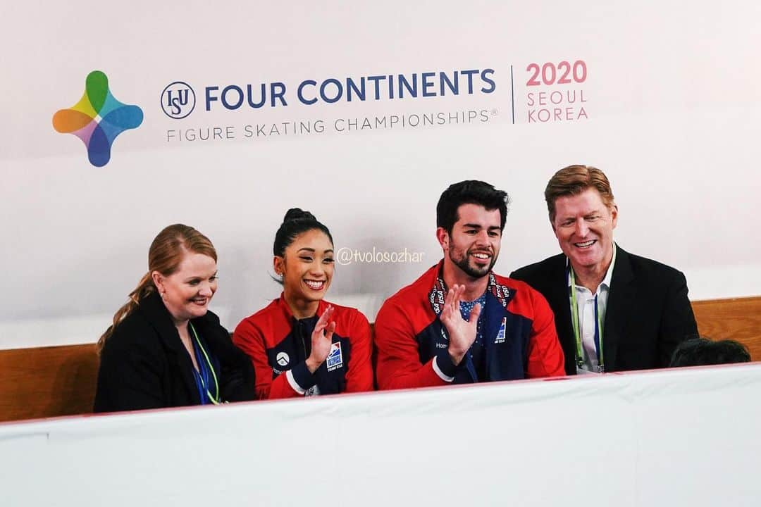
{"type": "Polygon", "coordinates": [[[3,505],[756,505],[761,365],[0,424],[3,505]]]}

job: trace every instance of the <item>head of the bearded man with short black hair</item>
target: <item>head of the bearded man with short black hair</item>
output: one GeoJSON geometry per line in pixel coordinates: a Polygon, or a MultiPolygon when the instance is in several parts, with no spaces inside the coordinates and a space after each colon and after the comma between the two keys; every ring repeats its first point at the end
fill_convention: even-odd
{"type": "Polygon", "coordinates": [[[444,263],[473,279],[489,274],[499,255],[508,202],[507,192],[476,180],[444,190],[436,206],[436,237],[444,263]]]}

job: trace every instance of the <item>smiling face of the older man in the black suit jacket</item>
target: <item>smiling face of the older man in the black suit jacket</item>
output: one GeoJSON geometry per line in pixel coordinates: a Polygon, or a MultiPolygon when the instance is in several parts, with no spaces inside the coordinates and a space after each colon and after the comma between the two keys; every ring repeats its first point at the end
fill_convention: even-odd
{"type": "Polygon", "coordinates": [[[600,192],[587,189],[578,195],[557,198],[555,210],[552,230],[574,271],[604,273],[613,258],[616,204],[608,208],[600,192]]]}

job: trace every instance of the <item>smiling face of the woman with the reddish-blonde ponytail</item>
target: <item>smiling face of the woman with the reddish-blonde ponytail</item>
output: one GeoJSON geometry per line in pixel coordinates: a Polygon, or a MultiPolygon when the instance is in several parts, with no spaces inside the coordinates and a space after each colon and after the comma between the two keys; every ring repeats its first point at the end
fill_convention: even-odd
{"type": "Polygon", "coordinates": [[[205,315],[217,291],[217,263],[209,255],[184,251],[177,271],[151,276],[176,325],[205,315]]]}

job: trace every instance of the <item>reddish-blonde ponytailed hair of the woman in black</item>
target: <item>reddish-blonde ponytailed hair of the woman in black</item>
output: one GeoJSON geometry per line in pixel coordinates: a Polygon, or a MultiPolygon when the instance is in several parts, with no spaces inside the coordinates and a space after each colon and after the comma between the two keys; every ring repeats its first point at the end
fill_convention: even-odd
{"type": "Polygon", "coordinates": [[[169,227],[164,227],[161,233],[158,233],[151,242],[151,248],[148,249],[148,272],[140,279],[135,290],[129,293],[129,301],[116,310],[113,314],[113,323],[108,327],[97,341],[97,352],[103,350],[103,345],[113,334],[119,322],[132,314],[140,305],[140,301],[156,290],[151,273],[158,271],[164,276],[169,276],[177,271],[180,262],[183,260],[185,251],[209,255],[214,261],[217,261],[217,251],[214,249],[209,238],[199,233],[193,227],[175,223],[169,227]]]}

